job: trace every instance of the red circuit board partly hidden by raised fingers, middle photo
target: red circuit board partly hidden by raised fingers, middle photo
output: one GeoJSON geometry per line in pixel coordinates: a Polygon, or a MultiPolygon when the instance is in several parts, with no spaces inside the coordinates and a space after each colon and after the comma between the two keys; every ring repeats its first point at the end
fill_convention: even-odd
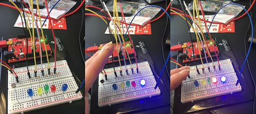
{"type": "MultiPolygon", "coordinates": [[[[122,53],[122,55],[120,54],[120,60],[128,60],[128,55],[130,57],[130,59],[134,59],[136,57],[136,54],[133,51],[133,47],[130,41],[126,41],[125,42],[125,46],[124,43],[123,44],[123,48],[126,48],[127,53],[125,53],[125,55],[123,56],[124,53],[122,53]],[[128,55],[127,55],[128,54],[128,55]]],[[[100,44],[99,48],[101,49],[105,44],[100,44]]],[[[108,58],[108,62],[107,63],[112,63],[112,62],[118,62],[118,52],[117,50],[120,50],[120,43],[118,43],[118,46],[116,46],[116,43],[114,43],[115,47],[114,47],[114,52],[113,52],[113,58],[112,56],[110,56],[108,58]]]]}

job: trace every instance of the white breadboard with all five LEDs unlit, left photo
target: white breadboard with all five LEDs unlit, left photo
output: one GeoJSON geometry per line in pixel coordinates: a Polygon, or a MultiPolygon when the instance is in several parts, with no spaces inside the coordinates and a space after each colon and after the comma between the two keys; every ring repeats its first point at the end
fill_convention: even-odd
{"type": "MultiPolygon", "coordinates": [[[[55,106],[63,103],[71,103],[72,101],[80,100],[83,98],[82,94],[78,92],[77,94],[75,91],[77,90],[78,86],[76,85],[76,81],[74,77],[72,77],[72,73],[69,70],[68,64],[65,60],[58,61],[57,63],[57,73],[60,75],[53,75],[47,78],[41,77],[40,79],[36,79],[32,77],[33,80],[30,85],[28,80],[28,76],[24,75],[24,71],[26,71],[25,67],[16,68],[17,75],[19,77],[20,83],[17,83],[16,88],[9,87],[8,88],[8,114],[20,114],[32,110],[38,110],[42,108],[46,108],[49,106],[55,106]],[[58,76],[58,77],[56,77],[58,76]],[[26,80],[27,79],[27,80],[26,80]],[[40,80],[40,81],[39,81],[40,80]],[[61,86],[66,83],[68,84],[67,91],[63,92],[61,90],[61,86]],[[52,93],[51,90],[48,93],[43,92],[42,95],[37,94],[37,87],[44,85],[55,85],[56,91],[52,93]],[[34,92],[32,97],[29,97],[27,94],[27,90],[31,88],[34,92]],[[16,91],[15,91],[16,90],[16,91]]],[[[51,67],[53,67],[54,63],[50,63],[51,67]]],[[[45,67],[45,64],[43,65],[45,67]]],[[[34,66],[30,66],[29,70],[33,74],[34,66]]],[[[38,66],[38,68],[40,68],[38,66]]],[[[52,68],[53,69],[53,68],[52,68]]],[[[44,69],[45,74],[47,73],[47,69],[44,69]]],[[[25,72],[27,73],[27,72],[25,72]]],[[[57,74],[56,73],[56,74],[57,74]]],[[[41,74],[40,72],[37,73],[38,75],[41,74]]],[[[16,82],[13,80],[13,76],[10,76],[8,83],[16,82]],[[12,80],[12,81],[11,81],[12,80]]],[[[33,75],[32,75],[33,76],[33,75]]],[[[9,84],[8,84],[9,85],[9,84]]]]}

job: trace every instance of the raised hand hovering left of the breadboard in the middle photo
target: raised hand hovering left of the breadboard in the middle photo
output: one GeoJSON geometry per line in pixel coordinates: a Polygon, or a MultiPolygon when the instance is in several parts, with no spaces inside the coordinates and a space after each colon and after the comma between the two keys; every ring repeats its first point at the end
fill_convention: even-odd
{"type": "Polygon", "coordinates": [[[85,114],[89,114],[87,92],[98,78],[101,70],[108,61],[108,57],[112,55],[113,51],[114,45],[112,42],[109,42],[85,62],[85,114]]]}

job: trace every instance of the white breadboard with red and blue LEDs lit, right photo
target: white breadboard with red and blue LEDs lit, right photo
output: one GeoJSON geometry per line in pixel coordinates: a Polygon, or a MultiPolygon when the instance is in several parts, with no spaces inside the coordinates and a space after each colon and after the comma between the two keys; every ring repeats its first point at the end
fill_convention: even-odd
{"type": "MultiPolygon", "coordinates": [[[[187,78],[181,85],[181,102],[194,102],[197,100],[212,98],[224,94],[232,94],[242,90],[240,83],[236,86],[237,76],[232,66],[230,59],[220,61],[221,70],[219,71],[218,62],[209,63],[211,72],[208,71],[207,64],[204,64],[204,73],[202,72],[202,65],[197,65],[200,75],[197,74],[196,67],[190,67],[190,78],[187,78]],[[216,66],[216,71],[213,69],[213,64],[216,66]],[[222,82],[221,77],[226,77],[226,81],[222,82]],[[217,83],[208,83],[206,80],[216,78],[217,83]],[[199,82],[196,87],[194,81],[199,82]],[[206,85],[202,85],[202,80],[206,81],[206,85]]],[[[212,80],[211,80],[212,81],[212,80]]]]}

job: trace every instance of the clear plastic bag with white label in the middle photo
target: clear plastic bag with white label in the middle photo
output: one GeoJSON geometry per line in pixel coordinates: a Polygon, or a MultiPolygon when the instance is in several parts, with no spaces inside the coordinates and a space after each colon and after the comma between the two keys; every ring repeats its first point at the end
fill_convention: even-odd
{"type": "MultiPolygon", "coordinates": [[[[140,5],[140,7],[130,16],[126,21],[128,23],[131,23],[133,17],[136,15],[137,12],[140,11],[140,9],[146,7],[146,5],[140,5]]],[[[139,24],[139,25],[144,25],[146,24],[149,20],[151,20],[158,12],[160,12],[161,8],[157,7],[147,7],[141,10],[134,20],[132,21],[132,24],[139,24]]]]}

